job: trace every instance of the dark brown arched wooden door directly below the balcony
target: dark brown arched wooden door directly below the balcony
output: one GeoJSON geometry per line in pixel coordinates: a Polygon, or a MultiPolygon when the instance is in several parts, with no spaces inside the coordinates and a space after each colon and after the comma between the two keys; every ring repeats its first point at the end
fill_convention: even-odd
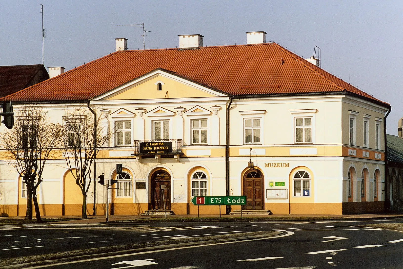
{"type": "Polygon", "coordinates": [[[171,177],[165,170],[154,172],[151,177],[151,208],[152,210],[171,210],[171,177]],[[161,186],[166,189],[161,189],[161,186]],[[164,193],[164,198],[162,198],[164,193]]]}

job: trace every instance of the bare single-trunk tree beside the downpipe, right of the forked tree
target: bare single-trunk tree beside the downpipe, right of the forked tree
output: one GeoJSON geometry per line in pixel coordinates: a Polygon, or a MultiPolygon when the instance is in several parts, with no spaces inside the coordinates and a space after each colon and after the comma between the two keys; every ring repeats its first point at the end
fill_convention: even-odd
{"type": "MultiPolygon", "coordinates": [[[[67,168],[83,194],[82,218],[87,218],[87,193],[93,180],[91,168],[96,154],[111,136],[100,124],[101,117],[87,107],[66,111],[60,142],[67,168]]],[[[95,199],[95,197],[94,197],[95,199]]]]}

